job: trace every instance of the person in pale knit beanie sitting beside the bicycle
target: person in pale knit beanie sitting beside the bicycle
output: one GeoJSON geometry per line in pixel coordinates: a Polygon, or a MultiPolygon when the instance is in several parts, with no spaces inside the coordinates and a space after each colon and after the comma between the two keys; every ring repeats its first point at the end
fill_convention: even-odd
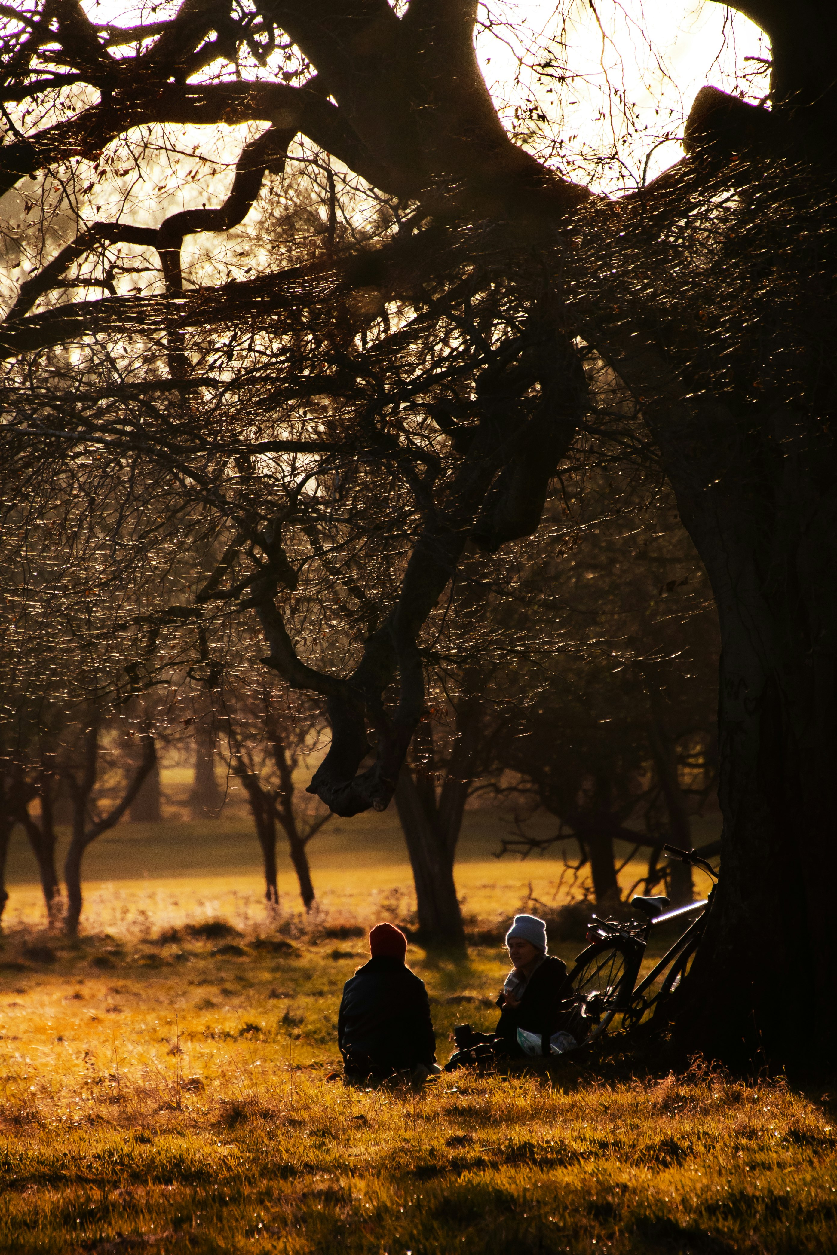
{"type": "Polygon", "coordinates": [[[497,999],[501,1009],[497,1037],[506,1052],[522,1054],[518,1028],[550,1037],[561,1024],[561,1001],[567,996],[567,966],[547,954],[546,924],[537,915],[516,915],[506,934],[512,970],[497,999]]]}

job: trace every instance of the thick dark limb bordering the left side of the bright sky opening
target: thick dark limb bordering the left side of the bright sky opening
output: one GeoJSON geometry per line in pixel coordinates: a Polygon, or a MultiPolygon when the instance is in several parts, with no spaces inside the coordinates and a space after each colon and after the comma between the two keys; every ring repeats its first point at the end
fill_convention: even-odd
{"type": "Polygon", "coordinates": [[[315,9],[272,0],[267,9],[399,190],[464,184],[463,205],[481,213],[566,212],[590,193],[509,139],[477,65],[473,10],[473,0],[428,0],[404,19],[384,0],[315,9]]]}

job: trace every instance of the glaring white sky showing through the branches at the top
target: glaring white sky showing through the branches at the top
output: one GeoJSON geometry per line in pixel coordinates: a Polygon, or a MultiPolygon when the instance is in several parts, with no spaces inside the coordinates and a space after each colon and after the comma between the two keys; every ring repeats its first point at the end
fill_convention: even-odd
{"type": "MultiPolygon", "coordinates": [[[[136,23],[143,8],[148,13],[152,6],[142,0],[85,3],[95,21],[120,25],[136,23]]],[[[176,8],[171,0],[154,4],[152,20],[176,8]]],[[[641,182],[649,149],[666,133],[681,134],[705,83],[743,89],[750,99],[767,92],[763,77],[749,85],[745,80],[757,69],[747,58],[768,55],[767,43],[748,19],[714,0],[489,0],[481,16],[481,64],[509,129],[551,164],[606,191],[641,182]],[[491,23],[498,24],[497,34],[486,29],[491,23]],[[552,60],[552,80],[538,84],[525,70],[516,85],[514,53],[521,50],[530,53],[530,64],[552,60]],[[565,80],[557,83],[555,75],[563,70],[565,80]],[[521,115],[532,98],[547,118],[538,119],[535,138],[521,115]],[[630,125],[622,102],[632,112],[630,125]],[[614,146],[621,169],[619,162],[597,169],[591,154],[614,146]]],[[[664,143],[649,159],[648,177],[680,156],[678,143],[664,143]]]]}

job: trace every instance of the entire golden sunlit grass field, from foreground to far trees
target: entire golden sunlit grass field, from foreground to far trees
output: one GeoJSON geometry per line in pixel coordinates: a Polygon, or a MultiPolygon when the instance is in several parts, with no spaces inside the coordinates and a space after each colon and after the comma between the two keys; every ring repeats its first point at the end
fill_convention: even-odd
{"type": "MultiPolygon", "coordinates": [[[[90,860],[102,875],[75,946],[40,930],[15,850],[3,1250],[837,1250],[837,1111],[822,1091],[654,1074],[617,1040],[548,1072],[447,1074],[419,1096],[328,1079],[340,989],[366,953],[356,931],[412,911],[400,846],[376,818],[351,845],[333,831],[312,847],[307,921],[287,877],[286,909],[267,917],[235,825],[125,826],[90,860]]],[[[458,868],[481,927],[502,926],[530,881],[550,901],[562,867],[497,862],[489,828],[469,820],[458,868]]],[[[493,1025],[499,946],[461,961],[412,946],[409,961],[442,1060],[454,1023],[493,1025]]]]}

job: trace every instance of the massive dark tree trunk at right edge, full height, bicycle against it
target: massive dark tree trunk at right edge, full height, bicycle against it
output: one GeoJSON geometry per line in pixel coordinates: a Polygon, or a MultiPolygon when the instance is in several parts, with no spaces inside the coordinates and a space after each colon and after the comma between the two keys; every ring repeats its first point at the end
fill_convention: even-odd
{"type": "MultiPolygon", "coordinates": [[[[837,16],[824,0],[811,0],[804,21],[768,0],[735,8],[770,35],[773,109],[706,88],[685,131],[698,153],[689,177],[699,190],[705,173],[708,206],[718,203],[715,176],[740,173],[738,187],[727,184],[729,233],[715,233],[727,287],[709,267],[703,289],[693,272],[693,312],[612,319],[601,305],[600,328],[609,325],[592,339],[660,449],[722,634],[722,871],[673,1004],[675,1040],[684,1054],[733,1065],[832,1068],[837,16]],[[690,339],[690,318],[706,320],[703,343],[690,339]]],[[[676,264],[675,250],[669,257],[676,264]]]]}

